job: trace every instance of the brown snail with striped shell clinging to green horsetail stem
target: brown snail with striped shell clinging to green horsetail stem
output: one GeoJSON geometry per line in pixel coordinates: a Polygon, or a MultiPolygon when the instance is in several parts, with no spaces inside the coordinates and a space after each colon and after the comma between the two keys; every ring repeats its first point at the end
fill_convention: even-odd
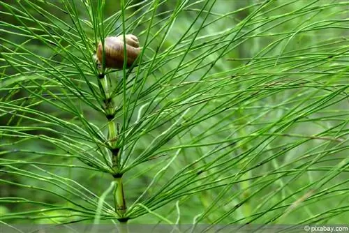
{"type": "MultiPolygon", "coordinates": [[[[138,38],[132,34],[125,35],[127,63],[126,68],[130,68],[140,54],[138,38]]],[[[122,69],[124,66],[124,36],[110,36],[104,40],[105,68],[122,69]]],[[[103,46],[100,41],[97,45],[96,60],[98,66],[103,62],[103,46]]]]}

